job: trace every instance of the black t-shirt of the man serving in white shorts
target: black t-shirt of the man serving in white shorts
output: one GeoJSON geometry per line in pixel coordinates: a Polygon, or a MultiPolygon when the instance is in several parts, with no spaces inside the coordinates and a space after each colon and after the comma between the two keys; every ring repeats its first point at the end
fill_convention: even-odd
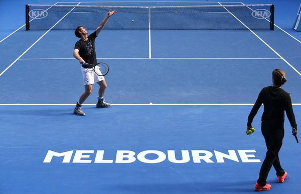
{"type": "Polygon", "coordinates": [[[81,58],[83,58],[83,60],[86,63],[89,63],[89,64],[97,63],[95,46],[94,46],[94,41],[95,41],[96,37],[97,37],[97,35],[96,35],[96,32],[94,31],[94,33],[92,33],[88,36],[87,41],[80,39],[79,41],[77,41],[75,43],[75,46],[74,46],[74,49],[79,50],[79,52],[78,52],[79,56],[81,58]]]}

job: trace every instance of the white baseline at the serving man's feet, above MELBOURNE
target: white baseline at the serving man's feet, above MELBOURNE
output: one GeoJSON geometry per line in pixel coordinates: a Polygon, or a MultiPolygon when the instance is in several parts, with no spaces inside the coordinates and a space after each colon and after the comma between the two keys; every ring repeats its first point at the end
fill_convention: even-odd
{"type": "MultiPolygon", "coordinates": [[[[0,104],[0,106],[75,106],[76,104],[0,104]]],[[[252,103],[189,103],[189,104],[112,104],[113,106],[253,106],[252,103]]],[[[292,103],[301,105],[301,103],[292,103]]],[[[95,106],[95,104],[83,104],[83,106],[95,106]]]]}

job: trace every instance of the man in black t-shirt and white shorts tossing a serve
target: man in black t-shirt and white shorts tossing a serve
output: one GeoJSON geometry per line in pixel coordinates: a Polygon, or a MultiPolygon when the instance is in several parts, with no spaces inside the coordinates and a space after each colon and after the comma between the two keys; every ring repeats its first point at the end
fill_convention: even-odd
{"type": "Polygon", "coordinates": [[[82,26],[78,26],[75,29],[75,36],[80,38],[79,41],[76,42],[73,57],[76,58],[82,64],[82,75],[85,85],[85,92],[80,96],[78,102],[76,103],[76,107],[74,108],[73,113],[76,115],[85,116],[86,114],[82,111],[81,105],[88,98],[88,96],[92,92],[92,85],[96,82],[99,85],[98,90],[98,102],[96,104],[97,108],[105,108],[110,107],[111,104],[104,102],[104,92],[107,88],[107,84],[103,76],[98,76],[94,73],[93,69],[85,68],[84,64],[96,64],[96,52],[95,52],[95,44],[94,40],[103,29],[105,24],[108,22],[108,19],[115,14],[116,11],[109,11],[108,15],[105,19],[99,24],[96,28],[95,32],[88,36],[88,31],[82,26]]]}

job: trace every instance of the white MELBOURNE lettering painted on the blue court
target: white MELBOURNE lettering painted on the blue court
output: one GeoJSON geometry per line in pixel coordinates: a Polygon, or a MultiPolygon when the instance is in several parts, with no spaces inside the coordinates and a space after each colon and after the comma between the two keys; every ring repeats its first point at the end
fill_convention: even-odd
{"type": "Polygon", "coordinates": [[[254,155],[255,149],[229,149],[226,152],[217,150],[144,150],[135,152],[132,150],[116,150],[114,157],[109,157],[105,150],[69,150],[57,152],[48,150],[44,163],[225,163],[235,162],[260,162],[254,155]]]}

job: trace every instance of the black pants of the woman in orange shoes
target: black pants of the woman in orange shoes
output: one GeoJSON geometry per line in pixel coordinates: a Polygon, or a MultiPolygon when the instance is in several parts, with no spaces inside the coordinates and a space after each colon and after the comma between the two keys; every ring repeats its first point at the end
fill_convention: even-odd
{"type": "Polygon", "coordinates": [[[280,165],[278,157],[279,150],[282,146],[282,139],[284,137],[283,122],[262,121],[261,133],[265,140],[267,152],[260,168],[257,183],[264,186],[266,184],[268,172],[272,166],[274,166],[277,176],[283,176],[284,174],[284,170],[280,165]]]}

